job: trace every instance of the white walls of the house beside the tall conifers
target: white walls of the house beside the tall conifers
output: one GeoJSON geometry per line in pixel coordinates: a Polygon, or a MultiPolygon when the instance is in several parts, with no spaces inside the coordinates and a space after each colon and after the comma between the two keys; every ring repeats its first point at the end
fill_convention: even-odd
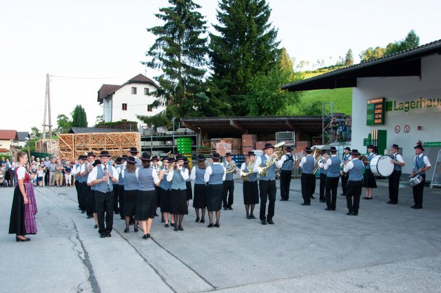
{"type": "Polygon", "coordinates": [[[124,85],[123,88],[116,90],[112,96],[112,99],[103,103],[103,116],[105,117],[104,121],[121,121],[125,119],[127,121],[137,121],[141,126],[143,122],[136,118],[137,114],[153,116],[163,111],[165,107],[153,108],[152,112],[147,112],[147,105],[152,104],[156,98],[145,95],[144,88],[148,88],[150,92],[154,92],[156,90],[153,85],[145,83],[130,83],[124,85]],[[132,88],[136,88],[136,94],[132,94],[132,88]],[[127,104],[127,110],[123,110],[123,103],[127,104]],[[112,109],[111,113],[109,109],[112,109]]]}

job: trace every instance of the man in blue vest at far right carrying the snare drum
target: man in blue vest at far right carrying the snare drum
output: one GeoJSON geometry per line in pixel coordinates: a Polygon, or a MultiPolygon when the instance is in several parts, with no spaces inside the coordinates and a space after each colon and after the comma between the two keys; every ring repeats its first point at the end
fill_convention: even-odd
{"type": "Polygon", "coordinates": [[[413,202],[414,205],[411,208],[419,210],[422,208],[422,192],[424,191],[424,183],[426,182],[426,171],[431,168],[431,163],[429,158],[425,156],[422,152],[424,152],[424,148],[422,145],[418,144],[415,149],[415,159],[413,159],[413,168],[412,174],[409,178],[420,175],[422,176],[422,181],[417,185],[413,186],[413,202]]]}

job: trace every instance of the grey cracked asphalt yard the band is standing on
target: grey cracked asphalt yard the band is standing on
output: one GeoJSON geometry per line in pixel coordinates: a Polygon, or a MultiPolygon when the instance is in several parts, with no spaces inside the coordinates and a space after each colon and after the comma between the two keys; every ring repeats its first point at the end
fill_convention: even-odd
{"type": "Polygon", "coordinates": [[[347,216],[340,196],[335,212],[318,195],[300,205],[294,179],[289,201],[276,201],[275,225],[263,226],[245,219],[236,181],[220,228],[195,223],[191,208],[184,232],[156,218],[147,241],[133,226],[123,233],[119,215],[101,239],[74,188],[37,188],[39,232],[29,243],[8,234],[12,188],[0,188],[0,292],[440,292],[441,190],[425,188],[424,208],[413,210],[411,188],[387,205],[379,185],[347,216]]]}

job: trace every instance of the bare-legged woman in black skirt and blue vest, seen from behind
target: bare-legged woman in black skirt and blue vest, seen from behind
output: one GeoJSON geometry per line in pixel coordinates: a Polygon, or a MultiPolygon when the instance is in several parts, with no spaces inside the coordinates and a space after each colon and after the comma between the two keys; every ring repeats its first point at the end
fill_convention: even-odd
{"type": "Polygon", "coordinates": [[[156,190],[155,185],[159,184],[158,173],[150,168],[150,156],[143,153],[141,156],[141,165],[143,168],[136,169],[139,187],[136,196],[135,219],[141,221],[143,229],[143,239],[150,238],[150,228],[156,212],[156,190]]]}

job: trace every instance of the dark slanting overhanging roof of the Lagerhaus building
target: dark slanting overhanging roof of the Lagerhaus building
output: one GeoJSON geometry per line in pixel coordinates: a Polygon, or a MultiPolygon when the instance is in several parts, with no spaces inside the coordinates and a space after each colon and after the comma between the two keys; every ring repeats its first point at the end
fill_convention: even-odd
{"type": "Polygon", "coordinates": [[[441,54],[441,40],[365,61],[310,79],[303,79],[282,86],[282,90],[324,90],[332,88],[356,88],[360,77],[419,77],[421,59],[431,54],[441,54]]]}

